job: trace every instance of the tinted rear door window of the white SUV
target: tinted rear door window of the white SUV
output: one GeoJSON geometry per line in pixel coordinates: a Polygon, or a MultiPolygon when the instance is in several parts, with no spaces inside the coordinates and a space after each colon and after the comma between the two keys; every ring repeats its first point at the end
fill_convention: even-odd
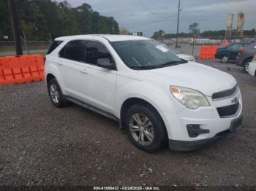
{"type": "Polygon", "coordinates": [[[83,40],[75,40],[67,43],[59,52],[61,58],[67,58],[72,61],[84,61],[84,45],[83,40]]]}

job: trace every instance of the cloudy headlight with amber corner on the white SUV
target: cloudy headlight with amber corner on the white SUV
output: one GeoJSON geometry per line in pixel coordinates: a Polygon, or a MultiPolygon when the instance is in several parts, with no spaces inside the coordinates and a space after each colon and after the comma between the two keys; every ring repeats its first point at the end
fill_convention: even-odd
{"type": "Polygon", "coordinates": [[[184,106],[189,109],[197,109],[200,106],[210,106],[205,95],[186,87],[171,86],[170,92],[184,106]]]}

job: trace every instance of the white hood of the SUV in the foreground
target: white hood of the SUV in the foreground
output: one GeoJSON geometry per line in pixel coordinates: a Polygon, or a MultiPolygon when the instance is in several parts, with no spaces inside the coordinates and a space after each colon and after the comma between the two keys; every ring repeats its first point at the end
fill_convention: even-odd
{"type": "Polygon", "coordinates": [[[206,96],[231,89],[237,83],[233,76],[224,71],[193,62],[160,69],[141,70],[139,75],[148,79],[157,79],[167,85],[188,87],[206,96]]]}

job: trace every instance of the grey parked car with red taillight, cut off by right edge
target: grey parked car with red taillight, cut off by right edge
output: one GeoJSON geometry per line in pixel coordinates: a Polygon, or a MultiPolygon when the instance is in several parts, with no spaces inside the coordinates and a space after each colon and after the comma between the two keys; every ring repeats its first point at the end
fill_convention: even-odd
{"type": "Polygon", "coordinates": [[[249,62],[252,61],[252,58],[256,54],[256,41],[252,41],[246,46],[242,47],[238,56],[236,57],[236,64],[238,66],[242,66],[246,73],[249,72],[249,62]]]}

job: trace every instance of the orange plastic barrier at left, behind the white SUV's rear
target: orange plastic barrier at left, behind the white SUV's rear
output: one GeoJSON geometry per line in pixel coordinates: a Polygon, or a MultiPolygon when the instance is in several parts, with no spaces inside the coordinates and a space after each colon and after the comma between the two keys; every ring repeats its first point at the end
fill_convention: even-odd
{"type": "Polygon", "coordinates": [[[0,85],[37,82],[44,79],[44,58],[42,55],[0,58],[0,85]]]}

